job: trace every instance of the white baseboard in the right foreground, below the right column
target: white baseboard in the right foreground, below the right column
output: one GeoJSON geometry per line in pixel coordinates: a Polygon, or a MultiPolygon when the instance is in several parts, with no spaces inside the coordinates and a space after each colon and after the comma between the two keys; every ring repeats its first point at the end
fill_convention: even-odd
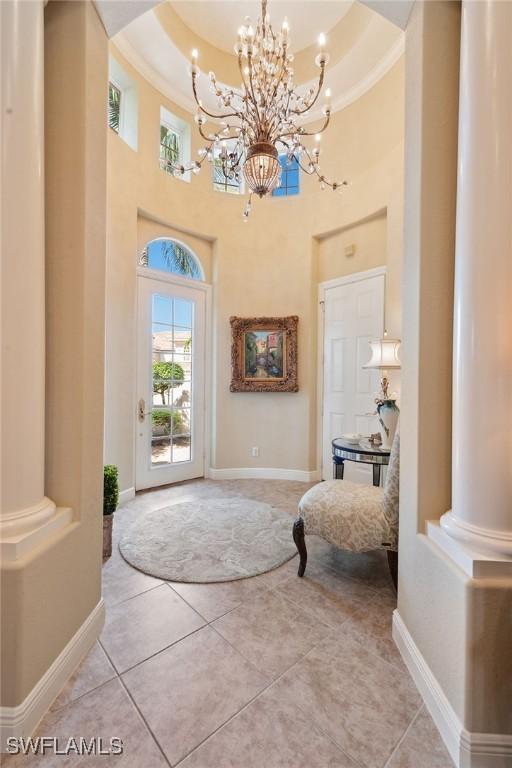
{"type": "Polygon", "coordinates": [[[393,639],[456,768],[511,768],[512,735],[467,731],[421,655],[398,610],[393,639]]]}

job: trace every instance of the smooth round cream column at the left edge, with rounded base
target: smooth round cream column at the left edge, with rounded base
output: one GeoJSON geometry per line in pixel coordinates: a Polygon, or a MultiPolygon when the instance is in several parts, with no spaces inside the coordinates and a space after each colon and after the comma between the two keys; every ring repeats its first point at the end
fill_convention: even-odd
{"type": "Polygon", "coordinates": [[[55,512],[44,495],[43,10],[42,0],[0,3],[2,542],[55,512]]]}

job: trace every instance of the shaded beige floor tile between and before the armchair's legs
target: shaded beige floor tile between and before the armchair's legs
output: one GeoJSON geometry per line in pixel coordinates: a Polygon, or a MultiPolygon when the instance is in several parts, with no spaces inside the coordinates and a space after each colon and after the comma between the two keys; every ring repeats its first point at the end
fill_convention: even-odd
{"type": "Polygon", "coordinates": [[[308,563],[302,578],[287,581],[277,591],[331,627],[339,626],[376,595],[366,584],[319,563],[308,563]]]}

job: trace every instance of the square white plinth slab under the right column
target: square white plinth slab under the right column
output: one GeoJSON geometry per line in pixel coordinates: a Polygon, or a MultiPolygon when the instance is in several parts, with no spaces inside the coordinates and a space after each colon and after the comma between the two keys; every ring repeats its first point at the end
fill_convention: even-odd
{"type": "Polygon", "coordinates": [[[512,578],[512,558],[477,552],[449,535],[438,520],[427,521],[426,533],[428,538],[434,541],[470,578],[512,578]]]}

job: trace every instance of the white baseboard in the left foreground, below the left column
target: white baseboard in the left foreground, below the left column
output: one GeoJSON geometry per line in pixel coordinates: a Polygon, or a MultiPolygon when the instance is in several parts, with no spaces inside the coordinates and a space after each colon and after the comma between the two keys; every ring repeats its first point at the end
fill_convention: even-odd
{"type": "Polygon", "coordinates": [[[33,734],[41,718],[100,636],[104,621],[105,604],[101,598],[25,700],[16,707],[0,707],[0,752],[5,751],[9,737],[28,738],[33,734]]]}

